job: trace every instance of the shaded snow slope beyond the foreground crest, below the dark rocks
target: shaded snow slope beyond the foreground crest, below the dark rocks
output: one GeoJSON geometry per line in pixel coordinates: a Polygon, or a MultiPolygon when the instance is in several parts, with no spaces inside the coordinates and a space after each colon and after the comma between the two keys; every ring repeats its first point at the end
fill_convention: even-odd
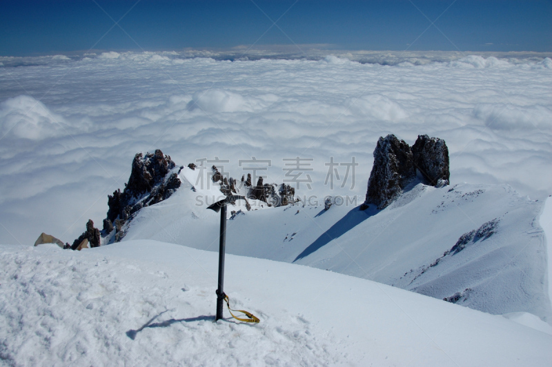
{"type": "MultiPolygon", "coordinates": [[[[206,210],[214,199],[205,199],[216,188],[193,191],[191,178],[181,179],[184,188],[141,210],[125,239],[217,250],[219,217],[206,210]]],[[[510,186],[413,182],[384,210],[360,211],[354,203],[255,210],[260,205],[233,209],[242,213],[228,221],[229,253],[371,279],[497,315],[551,320],[538,223],[543,202],[510,186]]]]}

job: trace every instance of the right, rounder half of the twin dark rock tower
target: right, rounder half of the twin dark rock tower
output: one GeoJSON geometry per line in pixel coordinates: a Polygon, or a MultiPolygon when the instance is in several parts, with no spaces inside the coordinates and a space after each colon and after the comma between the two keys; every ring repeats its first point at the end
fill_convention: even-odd
{"type": "Polygon", "coordinates": [[[418,135],[412,146],[414,166],[431,186],[449,184],[449,148],[443,139],[418,135]]]}

